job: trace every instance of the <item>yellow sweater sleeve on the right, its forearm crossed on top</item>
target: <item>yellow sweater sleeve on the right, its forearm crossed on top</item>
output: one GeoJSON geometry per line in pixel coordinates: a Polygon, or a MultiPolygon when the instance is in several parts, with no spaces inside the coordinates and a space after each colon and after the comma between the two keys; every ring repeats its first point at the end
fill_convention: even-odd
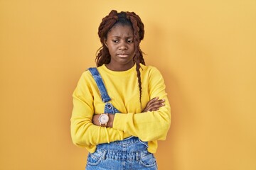
{"type": "Polygon", "coordinates": [[[171,125],[171,107],[166,94],[164,79],[158,69],[149,73],[149,98],[159,96],[165,106],[158,111],[145,113],[117,113],[113,128],[139,137],[142,141],[165,140],[171,125]]]}

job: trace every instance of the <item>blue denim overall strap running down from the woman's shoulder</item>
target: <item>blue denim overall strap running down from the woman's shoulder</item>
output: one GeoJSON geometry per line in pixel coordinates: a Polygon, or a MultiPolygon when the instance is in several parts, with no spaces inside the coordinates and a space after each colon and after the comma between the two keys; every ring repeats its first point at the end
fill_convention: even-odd
{"type": "Polygon", "coordinates": [[[107,101],[110,101],[111,98],[110,96],[107,94],[107,89],[104,85],[104,82],[102,80],[102,77],[100,76],[100,73],[98,72],[96,67],[91,67],[88,69],[90,71],[90,73],[92,74],[93,79],[95,79],[97,87],[100,91],[100,95],[102,97],[102,101],[104,103],[106,103],[107,101]]]}

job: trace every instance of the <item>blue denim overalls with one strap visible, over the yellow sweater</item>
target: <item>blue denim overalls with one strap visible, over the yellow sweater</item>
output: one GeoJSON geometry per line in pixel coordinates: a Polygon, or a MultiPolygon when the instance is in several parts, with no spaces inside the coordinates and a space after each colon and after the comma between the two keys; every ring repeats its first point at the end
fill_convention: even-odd
{"type": "MultiPolygon", "coordinates": [[[[120,113],[117,108],[109,103],[105,85],[96,68],[89,68],[95,79],[102,101],[105,103],[104,113],[120,113]]],[[[94,153],[87,157],[86,170],[122,170],[122,169],[149,169],[156,170],[156,159],[147,151],[147,142],[142,142],[138,137],[127,137],[124,140],[97,145],[94,153]]]]}

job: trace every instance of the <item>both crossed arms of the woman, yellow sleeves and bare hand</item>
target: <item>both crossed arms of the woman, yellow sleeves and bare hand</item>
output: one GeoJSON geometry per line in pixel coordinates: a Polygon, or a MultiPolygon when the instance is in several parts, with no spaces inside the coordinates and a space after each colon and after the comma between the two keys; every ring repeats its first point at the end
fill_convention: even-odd
{"type": "Polygon", "coordinates": [[[73,143],[93,152],[100,143],[123,140],[129,136],[143,141],[165,140],[171,124],[171,108],[165,92],[164,79],[155,70],[149,75],[149,96],[151,99],[142,113],[109,114],[109,128],[100,127],[100,114],[94,113],[90,86],[92,79],[85,72],[73,93],[73,113],[71,117],[71,136],[73,143]],[[87,86],[88,88],[85,88],[87,86]],[[85,98],[86,96],[86,98],[85,98]],[[163,100],[164,99],[164,100],[163,100]]]}

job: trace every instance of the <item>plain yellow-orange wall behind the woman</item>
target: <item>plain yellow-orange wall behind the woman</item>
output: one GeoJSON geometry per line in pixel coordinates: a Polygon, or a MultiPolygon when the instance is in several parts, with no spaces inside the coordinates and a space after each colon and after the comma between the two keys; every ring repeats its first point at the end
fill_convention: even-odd
{"type": "Polygon", "coordinates": [[[144,21],[172,108],[160,170],[256,169],[256,1],[0,1],[0,169],[85,169],[72,93],[114,8],[144,21]]]}

